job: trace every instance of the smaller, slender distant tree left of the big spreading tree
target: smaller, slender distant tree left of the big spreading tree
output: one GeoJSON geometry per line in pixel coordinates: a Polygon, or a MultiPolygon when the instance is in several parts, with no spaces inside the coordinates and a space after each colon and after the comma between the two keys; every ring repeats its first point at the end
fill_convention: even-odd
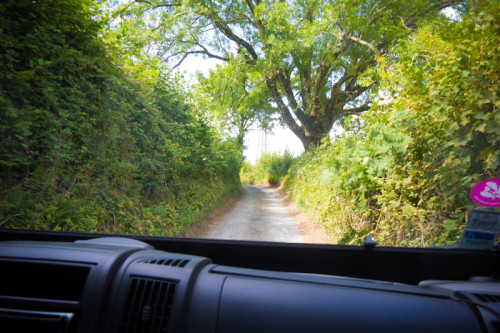
{"type": "Polygon", "coordinates": [[[208,78],[198,77],[197,99],[204,101],[203,109],[209,110],[223,127],[236,132],[236,141],[241,150],[247,131],[258,125],[263,129],[272,126],[272,98],[266,87],[251,81],[247,71],[234,61],[217,66],[208,78]]]}

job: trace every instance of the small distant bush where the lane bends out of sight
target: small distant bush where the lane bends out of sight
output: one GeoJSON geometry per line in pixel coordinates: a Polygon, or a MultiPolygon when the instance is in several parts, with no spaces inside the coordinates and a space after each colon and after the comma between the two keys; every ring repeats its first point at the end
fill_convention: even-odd
{"type": "Polygon", "coordinates": [[[283,154],[264,152],[255,165],[245,163],[240,171],[243,184],[269,184],[279,186],[294,160],[293,155],[285,150],[283,154]]]}

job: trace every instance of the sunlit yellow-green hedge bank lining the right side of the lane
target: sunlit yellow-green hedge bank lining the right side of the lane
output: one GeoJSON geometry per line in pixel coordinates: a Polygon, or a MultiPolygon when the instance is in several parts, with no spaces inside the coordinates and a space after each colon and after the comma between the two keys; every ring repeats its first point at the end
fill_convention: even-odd
{"type": "Polygon", "coordinates": [[[290,168],[285,188],[337,242],[456,243],[471,187],[500,174],[499,5],[464,8],[379,58],[384,103],[290,168]]]}

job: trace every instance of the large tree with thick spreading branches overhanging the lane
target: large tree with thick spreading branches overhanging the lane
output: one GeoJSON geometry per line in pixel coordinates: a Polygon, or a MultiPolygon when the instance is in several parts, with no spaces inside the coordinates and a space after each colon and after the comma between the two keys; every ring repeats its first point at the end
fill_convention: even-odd
{"type": "Polygon", "coordinates": [[[376,57],[453,2],[135,0],[120,13],[159,32],[156,49],[174,68],[192,54],[245,59],[308,150],[370,108],[376,57]]]}

